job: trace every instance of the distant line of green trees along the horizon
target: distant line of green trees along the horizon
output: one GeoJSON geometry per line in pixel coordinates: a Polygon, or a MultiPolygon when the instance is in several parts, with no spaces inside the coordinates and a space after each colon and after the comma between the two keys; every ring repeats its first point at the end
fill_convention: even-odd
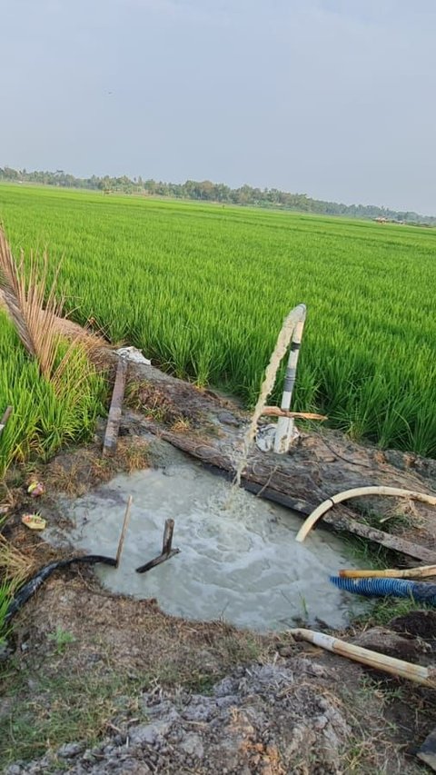
{"type": "Polygon", "coordinates": [[[27,172],[15,170],[12,167],[0,167],[0,180],[15,183],[35,183],[56,185],[64,188],[87,188],[91,191],[102,191],[111,194],[148,194],[154,196],[171,196],[175,199],[195,199],[203,202],[220,202],[223,204],[250,204],[255,207],[281,207],[284,210],[297,210],[300,213],[315,213],[322,215],[345,215],[352,218],[381,218],[387,221],[407,224],[436,225],[436,216],[425,217],[418,213],[401,213],[386,207],[376,207],[372,204],[339,204],[312,199],[306,194],[290,194],[277,188],[253,188],[243,185],[240,188],[230,188],[223,183],[212,183],[210,180],[187,180],[185,183],[163,183],[162,181],[143,180],[141,176],[133,180],[127,175],[122,177],[78,178],[64,173],[63,170],[50,172],[27,172]]]}

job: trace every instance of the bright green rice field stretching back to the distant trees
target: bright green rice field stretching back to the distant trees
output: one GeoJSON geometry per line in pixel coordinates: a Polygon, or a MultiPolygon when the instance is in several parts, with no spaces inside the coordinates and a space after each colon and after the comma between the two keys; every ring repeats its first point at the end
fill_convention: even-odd
{"type": "MultiPolygon", "coordinates": [[[[327,413],[353,438],[436,456],[436,231],[8,185],[0,221],[15,253],[46,247],[61,263],[74,320],[247,405],[283,317],[306,303],[294,408],[327,413]]],[[[0,358],[0,411],[21,380],[38,396],[23,420],[30,438],[45,423],[48,452],[61,420],[75,436],[82,410],[70,425],[58,416],[4,317],[0,358]]]]}

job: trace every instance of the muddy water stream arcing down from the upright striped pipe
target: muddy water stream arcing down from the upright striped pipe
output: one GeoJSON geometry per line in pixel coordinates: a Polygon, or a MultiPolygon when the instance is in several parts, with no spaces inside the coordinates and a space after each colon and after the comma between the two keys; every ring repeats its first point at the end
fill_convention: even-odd
{"type": "Polygon", "coordinates": [[[294,307],[293,310],[291,310],[291,312],[287,315],[287,317],[285,317],[283,321],[282,330],[277,337],[277,342],[275,343],[275,347],[272,351],[270,363],[268,363],[265,370],[261,392],[259,393],[259,398],[254,407],[252,420],[243,437],[243,451],[236,467],[236,473],[233,480],[233,489],[241,486],[241,477],[247,464],[248,455],[256,435],[257,423],[262,416],[263,408],[266,404],[267,398],[272,392],[272,388],[274,387],[275,377],[280,363],[282,362],[282,358],[291,343],[292,333],[294,332],[296,324],[302,319],[302,315],[304,315],[305,309],[306,308],[304,304],[299,304],[297,307],[294,307]]]}

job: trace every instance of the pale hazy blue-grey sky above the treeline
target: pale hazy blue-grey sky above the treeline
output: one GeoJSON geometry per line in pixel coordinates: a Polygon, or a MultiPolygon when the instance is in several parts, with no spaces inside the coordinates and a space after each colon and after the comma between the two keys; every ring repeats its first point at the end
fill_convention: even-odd
{"type": "Polygon", "coordinates": [[[435,0],[0,0],[0,165],[436,214],[435,0]]]}

